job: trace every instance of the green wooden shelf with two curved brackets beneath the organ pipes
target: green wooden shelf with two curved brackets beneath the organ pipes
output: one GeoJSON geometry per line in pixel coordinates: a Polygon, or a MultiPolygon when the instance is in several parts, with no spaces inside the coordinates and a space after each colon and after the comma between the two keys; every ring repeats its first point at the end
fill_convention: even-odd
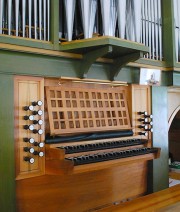
{"type": "Polygon", "coordinates": [[[81,78],[86,78],[91,65],[100,57],[113,59],[111,80],[115,80],[121,68],[134,62],[148,53],[149,47],[141,43],[128,41],[111,36],[63,42],[60,51],[83,55],[80,62],[81,78]]]}

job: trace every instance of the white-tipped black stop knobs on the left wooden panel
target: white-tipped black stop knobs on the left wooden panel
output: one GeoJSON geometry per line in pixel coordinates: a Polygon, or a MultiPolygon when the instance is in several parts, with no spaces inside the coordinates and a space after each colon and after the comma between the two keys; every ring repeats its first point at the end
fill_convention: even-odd
{"type": "MultiPolygon", "coordinates": [[[[35,120],[34,119],[34,115],[38,115],[38,116],[41,116],[43,114],[43,111],[42,110],[34,110],[34,106],[42,106],[42,101],[37,101],[37,102],[32,102],[32,105],[30,106],[25,106],[23,107],[23,109],[25,111],[31,111],[31,115],[25,115],[24,116],[24,120],[29,120],[32,122],[32,124],[30,125],[24,125],[24,129],[25,130],[30,130],[32,131],[34,134],[39,134],[39,135],[42,135],[43,134],[43,130],[42,129],[34,129],[34,125],[42,125],[43,124],[43,121],[41,119],[39,120],[35,120]]],[[[35,159],[32,157],[32,155],[37,155],[39,157],[43,157],[44,156],[44,152],[43,151],[36,151],[35,148],[38,147],[38,148],[43,148],[44,147],[44,143],[43,142],[36,142],[34,138],[24,138],[23,139],[24,142],[26,143],[29,143],[33,146],[31,147],[24,147],[23,150],[24,152],[27,152],[27,153],[30,153],[31,156],[27,156],[27,157],[24,157],[24,160],[33,164],[35,162],[35,159]]]]}

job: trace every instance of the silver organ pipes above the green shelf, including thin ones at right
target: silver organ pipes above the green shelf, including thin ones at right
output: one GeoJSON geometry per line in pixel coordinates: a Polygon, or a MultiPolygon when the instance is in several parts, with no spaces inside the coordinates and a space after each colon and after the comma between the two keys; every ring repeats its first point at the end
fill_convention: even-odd
{"type": "Polygon", "coordinates": [[[114,36],[143,43],[146,58],[162,60],[161,0],[64,0],[59,23],[65,40],[114,36]]]}

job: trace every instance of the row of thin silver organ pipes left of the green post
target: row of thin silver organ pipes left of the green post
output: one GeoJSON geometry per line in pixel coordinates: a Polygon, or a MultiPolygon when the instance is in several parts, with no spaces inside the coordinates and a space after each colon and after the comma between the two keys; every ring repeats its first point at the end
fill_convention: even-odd
{"type": "Polygon", "coordinates": [[[50,40],[50,0],[0,0],[0,34],[50,40]]]}

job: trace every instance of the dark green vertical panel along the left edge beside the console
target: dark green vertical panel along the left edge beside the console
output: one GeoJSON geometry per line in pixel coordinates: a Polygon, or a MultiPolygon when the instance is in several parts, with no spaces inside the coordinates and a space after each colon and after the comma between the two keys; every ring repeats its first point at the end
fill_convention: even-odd
{"type": "Polygon", "coordinates": [[[0,74],[0,211],[15,211],[13,76],[0,74]]]}

